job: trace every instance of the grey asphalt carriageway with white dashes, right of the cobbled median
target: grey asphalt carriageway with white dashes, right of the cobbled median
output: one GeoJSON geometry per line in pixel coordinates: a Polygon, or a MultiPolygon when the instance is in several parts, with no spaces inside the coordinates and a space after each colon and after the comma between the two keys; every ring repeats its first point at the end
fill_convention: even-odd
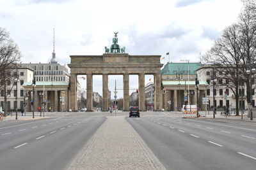
{"type": "Polygon", "coordinates": [[[255,169],[256,129],[175,117],[129,118],[166,169],[255,169]]]}

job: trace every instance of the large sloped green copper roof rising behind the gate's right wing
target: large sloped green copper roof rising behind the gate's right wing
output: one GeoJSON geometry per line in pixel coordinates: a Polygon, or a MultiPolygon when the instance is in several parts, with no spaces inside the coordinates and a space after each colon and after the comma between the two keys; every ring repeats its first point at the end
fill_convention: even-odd
{"type": "Polygon", "coordinates": [[[161,70],[161,75],[175,75],[176,73],[182,73],[183,75],[187,75],[188,69],[189,75],[193,75],[196,74],[196,69],[201,66],[202,64],[200,62],[170,62],[167,63],[161,70]]]}

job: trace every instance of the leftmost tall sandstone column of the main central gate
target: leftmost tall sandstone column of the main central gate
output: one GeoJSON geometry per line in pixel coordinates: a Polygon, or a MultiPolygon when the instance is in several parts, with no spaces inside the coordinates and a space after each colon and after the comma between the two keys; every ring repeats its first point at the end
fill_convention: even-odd
{"type": "Polygon", "coordinates": [[[70,74],[70,109],[77,111],[77,74],[70,74]]]}

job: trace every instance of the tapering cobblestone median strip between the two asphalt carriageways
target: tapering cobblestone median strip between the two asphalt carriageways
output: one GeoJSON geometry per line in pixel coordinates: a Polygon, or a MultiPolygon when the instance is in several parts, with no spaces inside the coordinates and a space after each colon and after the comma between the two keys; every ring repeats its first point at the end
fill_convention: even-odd
{"type": "Polygon", "coordinates": [[[68,169],[165,168],[125,117],[108,117],[68,169]]]}

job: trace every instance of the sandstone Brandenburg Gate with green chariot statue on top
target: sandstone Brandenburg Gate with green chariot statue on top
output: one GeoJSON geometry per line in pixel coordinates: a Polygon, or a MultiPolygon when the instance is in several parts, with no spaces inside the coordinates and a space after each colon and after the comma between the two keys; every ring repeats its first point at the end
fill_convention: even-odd
{"type": "MultiPolygon", "coordinates": [[[[118,32],[117,32],[118,33],[118,32]]],[[[70,107],[77,111],[77,75],[86,74],[87,111],[92,111],[93,74],[102,74],[103,110],[108,111],[108,75],[122,74],[124,81],[124,111],[129,110],[129,74],[139,76],[139,106],[145,111],[145,74],[154,75],[154,110],[163,108],[161,90],[161,55],[129,55],[118,45],[117,33],[113,45],[105,47],[103,55],[70,55],[70,107]]]]}

